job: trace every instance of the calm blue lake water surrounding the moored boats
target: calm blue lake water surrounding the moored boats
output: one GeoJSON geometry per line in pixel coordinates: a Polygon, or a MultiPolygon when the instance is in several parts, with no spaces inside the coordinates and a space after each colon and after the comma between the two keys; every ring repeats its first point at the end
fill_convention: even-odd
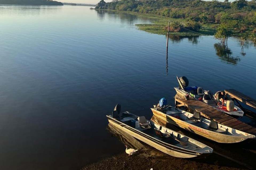
{"type": "MultiPolygon", "coordinates": [[[[138,30],[147,18],[90,7],[0,6],[0,169],[79,169],[124,151],[106,130],[117,103],[145,115],[176,75],[256,98],[256,48],[231,38],[138,30]]],[[[254,124],[249,118],[244,121],[254,124]]]]}

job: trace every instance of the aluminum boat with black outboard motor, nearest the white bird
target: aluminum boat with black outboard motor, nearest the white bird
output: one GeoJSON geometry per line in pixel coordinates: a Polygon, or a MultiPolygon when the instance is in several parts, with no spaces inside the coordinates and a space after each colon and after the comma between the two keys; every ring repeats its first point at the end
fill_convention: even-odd
{"type": "Polygon", "coordinates": [[[107,115],[109,123],[168,155],[193,158],[213,152],[209,146],[146,120],[144,116],[120,113],[120,110],[121,106],[117,104],[112,114],[107,115]]]}

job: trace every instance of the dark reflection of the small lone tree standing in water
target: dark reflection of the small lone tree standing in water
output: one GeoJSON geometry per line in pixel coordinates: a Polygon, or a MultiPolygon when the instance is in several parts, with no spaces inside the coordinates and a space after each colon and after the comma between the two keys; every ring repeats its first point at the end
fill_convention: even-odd
{"type": "Polygon", "coordinates": [[[239,57],[231,56],[232,51],[230,48],[227,47],[227,45],[225,43],[223,43],[223,42],[215,43],[214,48],[216,50],[216,55],[219,56],[219,58],[222,61],[225,61],[225,62],[233,64],[233,65],[236,65],[240,61],[239,57]]]}

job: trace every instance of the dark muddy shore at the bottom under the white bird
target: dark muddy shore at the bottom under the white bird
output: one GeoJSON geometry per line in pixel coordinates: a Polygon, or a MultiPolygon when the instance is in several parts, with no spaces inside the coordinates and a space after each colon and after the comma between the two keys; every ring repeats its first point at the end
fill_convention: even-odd
{"type": "Polygon", "coordinates": [[[81,170],[89,169],[221,169],[235,170],[248,169],[228,159],[216,159],[216,154],[211,154],[200,159],[182,159],[164,154],[155,148],[145,146],[137,151],[135,155],[127,155],[125,150],[118,155],[99,160],[98,162],[86,165],[81,170]]]}

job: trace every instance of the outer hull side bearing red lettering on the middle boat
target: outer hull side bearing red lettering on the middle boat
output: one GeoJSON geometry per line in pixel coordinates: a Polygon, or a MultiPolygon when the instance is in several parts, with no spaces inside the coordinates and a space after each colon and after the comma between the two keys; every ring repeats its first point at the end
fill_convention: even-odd
{"type": "Polygon", "coordinates": [[[197,135],[200,135],[202,137],[205,137],[207,139],[210,139],[215,142],[219,143],[238,143],[246,140],[247,138],[238,137],[238,136],[231,136],[231,135],[225,135],[221,133],[217,133],[211,130],[203,129],[198,126],[186,123],[180,119],[177,119],[175,117],[169,116],[165,113],[162,113],[160,111],[157,111],[153,108],[151,108],[153,114],[155,117],[157,117],[163,124],[173,124],[175,126],[178,126],[182,129],[188,130],[192,133],[195,133],[197,135]]]}

